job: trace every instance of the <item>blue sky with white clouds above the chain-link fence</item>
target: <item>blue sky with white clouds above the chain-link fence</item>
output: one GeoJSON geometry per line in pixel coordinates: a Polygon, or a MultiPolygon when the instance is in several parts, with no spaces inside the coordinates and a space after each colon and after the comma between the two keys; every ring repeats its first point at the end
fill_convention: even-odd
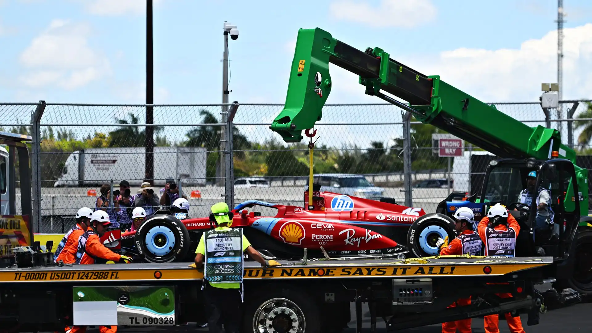
{"type": "MultiPolygon", "coordinates": [[[[240,30],[231,101],[283,103],[298,28],[313,27],[486,101],[533,101],[555,82],[554,0],[161,0],[154,12],[155,103],[221,101],[224,21],[240,30]]],[[[565,12],[564,97],[591,98],[592,2],[565,12]]],[[[0,101],[143,103],[144,29],[142,0],[0,0],[0,101]]],[[[355,76],[332,76],[328,103],[378,102],[355,76]]]]}

